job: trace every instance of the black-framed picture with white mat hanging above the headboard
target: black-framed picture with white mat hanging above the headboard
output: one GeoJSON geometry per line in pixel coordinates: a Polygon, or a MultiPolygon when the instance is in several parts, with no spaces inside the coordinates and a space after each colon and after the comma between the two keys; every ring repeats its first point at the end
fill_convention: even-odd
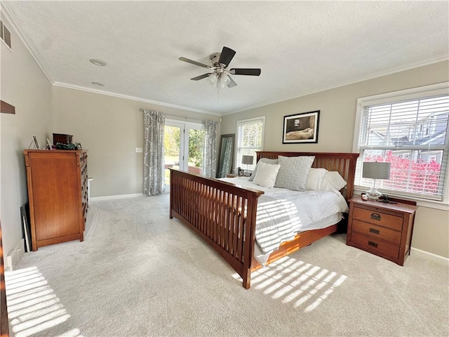
{"type": "Polygon", "coordinates": [[[283,117],[283,144],[318,143],[320,110],[283,117]]]}

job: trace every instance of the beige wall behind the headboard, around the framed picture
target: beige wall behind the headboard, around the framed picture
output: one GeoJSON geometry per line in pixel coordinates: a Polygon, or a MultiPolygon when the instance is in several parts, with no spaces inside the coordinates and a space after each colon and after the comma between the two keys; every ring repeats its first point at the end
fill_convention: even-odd
{"type": "MultiPolygon", "coordinates": [[[[222,133],[235,133],[240,119],[265,116],[264,150],[352,152],[357,98],[449,81],[449,62],[438,62],[222,118],[222,133]],[[282,144],[283,116],[320,110],[316,144],[282,144]]],[[[449,211],[421,206],[412,246],[449,258],[449,211]]]]}

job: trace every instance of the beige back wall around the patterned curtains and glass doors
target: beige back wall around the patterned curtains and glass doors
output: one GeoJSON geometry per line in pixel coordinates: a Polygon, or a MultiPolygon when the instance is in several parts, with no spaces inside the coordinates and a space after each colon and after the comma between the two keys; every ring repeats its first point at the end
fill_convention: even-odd
{"type": "Polygon", "coordinates": [[[143,191],[144,146],[141,108],[159,110],[185,121],[217,120],[217,116],[126,98],[53,87],[54,133],[73,135],[88,150],[91,197],[135,194],[143,191]]]}

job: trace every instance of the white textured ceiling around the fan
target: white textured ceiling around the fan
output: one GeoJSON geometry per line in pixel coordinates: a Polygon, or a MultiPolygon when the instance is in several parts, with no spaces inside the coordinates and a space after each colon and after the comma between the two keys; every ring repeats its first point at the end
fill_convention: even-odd
{"type": "Polygon", "coordinates": [[[449,55],[448,1],[4,2],[54,84],[217,114],[449,55]],[[207,70],[178,58],[209,64],[222,46],[260,77],[234,75],[219,94],[191,81],[207,70]]]}

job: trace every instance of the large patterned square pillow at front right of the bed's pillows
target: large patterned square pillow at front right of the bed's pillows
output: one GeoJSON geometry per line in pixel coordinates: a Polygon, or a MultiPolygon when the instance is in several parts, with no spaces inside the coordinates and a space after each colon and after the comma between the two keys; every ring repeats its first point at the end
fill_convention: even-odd
{"type": "Polygon", "coordinates": [[[307,173],[315,156],[283,157],[279,156],[278,176],[274,187],[288,188],[293,191],[304,191],[306,189],[307,173]]]}

